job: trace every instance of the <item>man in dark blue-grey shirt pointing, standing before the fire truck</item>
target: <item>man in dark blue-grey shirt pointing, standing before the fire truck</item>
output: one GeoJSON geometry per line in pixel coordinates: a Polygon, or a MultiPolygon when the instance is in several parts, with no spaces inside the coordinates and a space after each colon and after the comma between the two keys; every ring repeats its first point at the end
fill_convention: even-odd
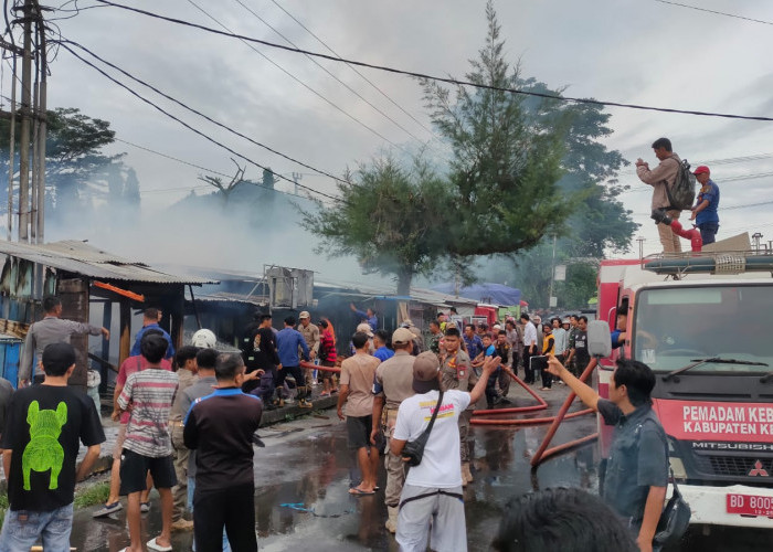
{"type": "Polygon", "coordinates": [[[607,401],[572,375],[555,357],[550,357],[548,371],[561,378],[607,425],[615,426],[603,498],[627,521],[639,550],[654,550],[653,538],[668,486],[666,432],[649,397],[655,374],[642,362],[618,360],[607,401]]]}

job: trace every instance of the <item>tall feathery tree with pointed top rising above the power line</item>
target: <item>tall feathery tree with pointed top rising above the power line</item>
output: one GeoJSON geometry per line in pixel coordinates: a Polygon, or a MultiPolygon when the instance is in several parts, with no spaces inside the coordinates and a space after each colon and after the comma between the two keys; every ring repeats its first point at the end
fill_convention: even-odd
{"type": "MultiPolygon", "coordinates": [[[[467,81],[498,88],[520,82],[518,65],[504,57],[505,42],[494,7],[486,7],[488,35],[467,81]]],[[[433,124],[453,151],[449,180],[458,223],[452,253],[458,256],[513,254],[560,232],[571,198],[559,193],[568,113],[551,112],[550,125],[521,95],[457,86],[452,91],[423,81],[433,124]]]]}

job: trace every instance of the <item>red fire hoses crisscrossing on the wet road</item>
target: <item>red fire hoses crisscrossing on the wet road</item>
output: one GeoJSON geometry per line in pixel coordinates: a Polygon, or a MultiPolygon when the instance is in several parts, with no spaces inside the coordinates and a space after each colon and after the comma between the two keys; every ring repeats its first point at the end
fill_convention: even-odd
{"type": "MultiPolygon", "coordinates": [[[[585,381],[590,374],[593,372],[593,369],[595,368],[595,363],[590,364],[585,371],[582,373],[580,376],[580,381],[585,381]]],[[[534,417],[534,418],[508,418],[508,420],[477,420],[475,416],[488,416],[488,415],[496,415],[496,414],[523,414],[523,413],[529,413],[529,412],[536,412],[536,411],[541,411],[548,408],[548,403],[539,396],[534,391],[529,388],[520,378],[518,378],[516,374],[508,372],[510,378],[518,383],[521,388],[523,388],[531,396],[533,396],[539,404],[532,405],[532,406],[518,406],[513,408],[493,408],[493,410],[483,410],[483,411],[475,411],[473,414],[473,420],[470,421],[470,424],[475,425],[506,425],[506,426],[512,426],[512,425],[542,425],[542,424],[552,424],[550,428],[548,429],[548,434],[546,435],[544,439],[542,440],[542,444],[540,447],[537,449],[537,453],[531,459],[531,465],[537,466],[540,464],[543,459],[549,458],[551,456],[554,456],[559,453],[566,452],[571,448],[574,448],[580,445],[584,445],[585,443],[590,443],[593,439],[599,437],[597,433],[594,433],[592,435],[587,435],[585,437],[581,437],[578,439],[570,440],[568,443],[564,443],[562,445],[555,446],[553,448],[548,449],[548,446],[550,445],[550,442],[552,440],[553,436],[555,435],[555,432],[564,420],[572,420],[575,417],[584,416],[587,414],[593,413],[593,408],[585,408],[581,410],[578,412],[573,412],[571,414],[566,414],[569,411],[570,406],[574,402],[574,399],[576,395],[574,393],[570,393],[566,400],[563,402],[561,405],[561,408],[559,410],[559,413],[555,416],[547,416],[547,417],[534,417]]]]}

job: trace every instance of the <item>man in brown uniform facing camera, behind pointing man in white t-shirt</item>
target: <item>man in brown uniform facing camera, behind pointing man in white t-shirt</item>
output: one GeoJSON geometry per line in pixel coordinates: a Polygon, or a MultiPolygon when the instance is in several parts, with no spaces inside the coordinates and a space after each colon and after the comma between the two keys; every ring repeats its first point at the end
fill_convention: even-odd
{"type": "MultiPolygon", "coordinates": [[[[472,325],[467,326],[467,330],[472,330],[472,325]]],[[[477,336],[476,336],[477,338],[477,336]]],[[[441,381],[444,390],[457,389],[459,391],[469,391],[472,385],[477,383],[477,375],[473,371],[473,362],[469,354],[462,350],[462,339],[459,330],[448,328],[445,330],[445,357],[443,357],[443,365],[441,367],[441,381]]],[[[480,343],[483,346],[483,342],[480,343]]],[[[483,352],[483,351],[481,351],[483,352]]],[[[483,365],[483,364],[481,364],[483,365]]],[[[485,386],[484,386],[485,389],[485,386]]],[[[457,416],[458,418],[458,437],[459,437],[459,460],[462,461],[462,482],[467,485],[473,482],[473,473],[469,469],[469,446],[467,445],[467,435],[469,434],[469,421],[473,418],[475,411],[475,402],[470,402],[466,408],[463,408],[457,416]]]]}

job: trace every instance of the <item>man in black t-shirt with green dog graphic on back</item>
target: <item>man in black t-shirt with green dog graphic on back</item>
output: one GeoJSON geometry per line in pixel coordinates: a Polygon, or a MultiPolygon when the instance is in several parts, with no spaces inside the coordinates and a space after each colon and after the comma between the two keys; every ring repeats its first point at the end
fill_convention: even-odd
{"type": "Polygon", "coordinates": [[[75,481],[89,474],[105,440],[94,401],[67,386],[75,349],[52,343],[42,354],[45,380],[11,396],[0,447],[10,510],[0,550],[30,550],[39,537],[45,550],[70,550],[75,481]],[[75,469],[78,442],[88,447],[75,469]]]}

